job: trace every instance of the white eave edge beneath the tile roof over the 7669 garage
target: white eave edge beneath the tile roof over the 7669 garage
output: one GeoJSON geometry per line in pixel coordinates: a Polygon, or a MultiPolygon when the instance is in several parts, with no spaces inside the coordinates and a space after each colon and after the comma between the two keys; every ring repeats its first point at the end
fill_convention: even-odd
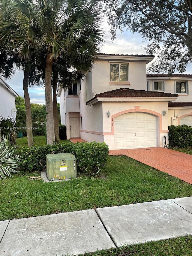
{"type": "Polygon", "coordinates": [[[139,102],[139,101],[176,101],[178,97],[125,97],[125,98],[93,98],[90,101],[87,101],[88,106],[92,106],[97,102],[139,102]]]}

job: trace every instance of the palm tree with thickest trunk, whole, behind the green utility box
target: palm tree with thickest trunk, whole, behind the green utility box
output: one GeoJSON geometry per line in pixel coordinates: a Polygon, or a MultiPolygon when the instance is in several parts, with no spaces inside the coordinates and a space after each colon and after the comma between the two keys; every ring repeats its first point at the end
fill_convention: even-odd
{"type": "Polygon", "coordinates": [[[68,58],[74,58],[70,59],[72,66],[79,61],[87,66],[86,63],[91,63],[96,57],[103,39],[98,11],[86,1],[39,0],[37,3],[37,23],[41,27],[40,48],[46,49],[47,144],[52,144],[55,141],[51,87],[53,64],[66,53],[68,58]]]}

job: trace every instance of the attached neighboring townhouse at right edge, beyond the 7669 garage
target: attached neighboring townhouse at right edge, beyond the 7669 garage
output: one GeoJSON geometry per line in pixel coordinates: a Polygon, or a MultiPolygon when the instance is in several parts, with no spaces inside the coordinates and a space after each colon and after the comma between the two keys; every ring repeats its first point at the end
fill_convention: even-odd
{"type": "Polygon", "coordinates": [[[192,75],[147,74],[147,90],[177,93],[176,101],[168,103],[169,125],[192,125],[192,75]]]}

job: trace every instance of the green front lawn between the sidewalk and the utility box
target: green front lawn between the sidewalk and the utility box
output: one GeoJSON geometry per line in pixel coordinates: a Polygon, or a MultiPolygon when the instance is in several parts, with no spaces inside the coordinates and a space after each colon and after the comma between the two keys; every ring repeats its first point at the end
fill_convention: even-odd
{"type": "Polygon", "coordinates": [[[0,220],[191,196],[187,182],[125,156],[109,156],[98,178],[29,180],[39,175],[0,180],[0,220]]]}

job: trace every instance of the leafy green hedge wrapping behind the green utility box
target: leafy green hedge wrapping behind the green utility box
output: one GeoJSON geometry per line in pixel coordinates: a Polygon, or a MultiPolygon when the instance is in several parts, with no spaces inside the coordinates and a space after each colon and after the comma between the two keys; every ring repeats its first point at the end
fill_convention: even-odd
{"type": "Polygon", "coordinates": [[[19,168],[23,171],[45,171],[46,155],[58,153],[72,153],[79,171],[95,175],[106,165],[109,149],[105,143],[97,142],[22,147],[17,152],[21,156],[19,168]]]}

